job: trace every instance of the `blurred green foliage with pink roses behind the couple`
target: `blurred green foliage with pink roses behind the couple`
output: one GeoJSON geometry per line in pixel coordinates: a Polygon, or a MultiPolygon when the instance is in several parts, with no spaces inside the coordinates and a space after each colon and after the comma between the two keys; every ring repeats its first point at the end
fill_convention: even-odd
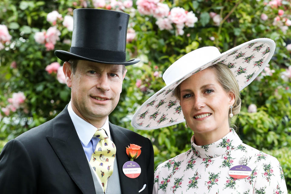
{"type": "Polygon", "coordinates": [[[290,0],[1,0],[0,151],[68,104],[70,89],[54,51],[69,51],[75,8],[130,14],[127,60],[141,62],[127,67],[119,104],[109,120],[148,137],[155,166],[191,148],[192,131],[184,123],[148,131],[130,124],[139,106],[165,85],[163,72],[200,47],[225,52],[255,38],[273,39],[275,54],[241,91],[242,109],[232,122],[244,143],[279,160],[291,193],[290,0]]]}

